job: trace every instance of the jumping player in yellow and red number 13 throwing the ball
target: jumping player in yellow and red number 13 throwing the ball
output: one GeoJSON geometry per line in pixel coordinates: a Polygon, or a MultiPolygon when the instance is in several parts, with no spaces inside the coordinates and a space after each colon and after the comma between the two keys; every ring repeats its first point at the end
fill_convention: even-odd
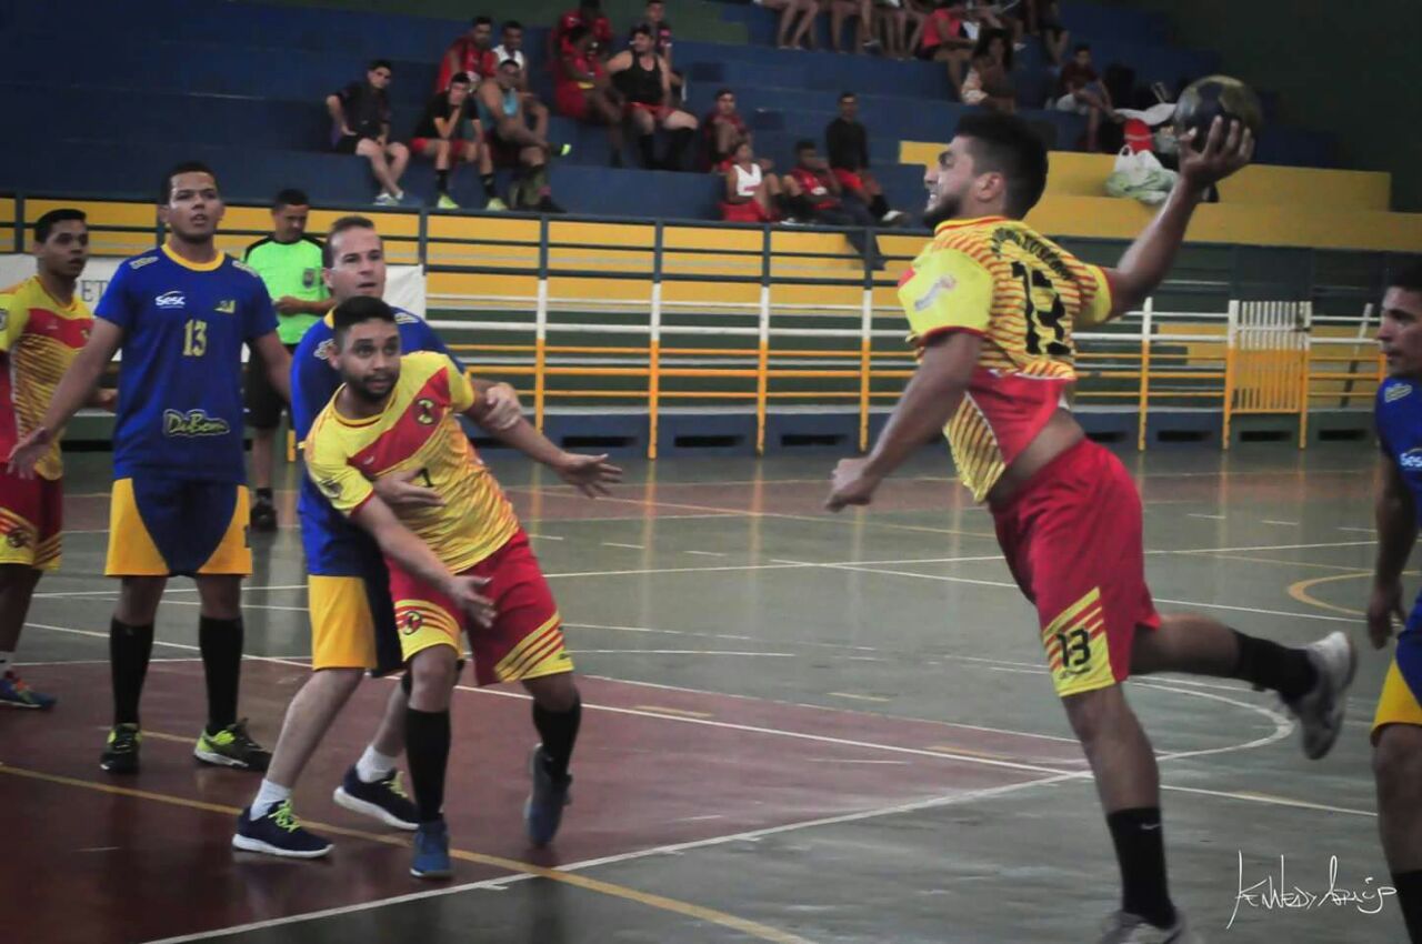
{"type": "Polygon", "coordinates": [[[872,454],[845,459],[826,506],[867,505],[940,429],[985,500],[1017,584],[1037,606],[1058,695],[1096,778],[1123,896],[1102,944],[1199,938],[1166,889],[1155,753],[1121,687],[1130,674],[1241,678],[1280,694],[1320,758],[1342,725],[1355,657],[1342,633],[1285,648],[1212,618],[1162,620],[1145,581],[1140,498],[1125,466],[1061,407],[1074,326],[1129,311],[1165,279],[1207,186],[1247,163],[1253,138],[1216,122],[1180,183],[1113,270],[1076,260],[1022,218],[1047,151],[1018,118],[970,115],[930,168],[934,240],[899,283],[920,363],[872,454]]]}

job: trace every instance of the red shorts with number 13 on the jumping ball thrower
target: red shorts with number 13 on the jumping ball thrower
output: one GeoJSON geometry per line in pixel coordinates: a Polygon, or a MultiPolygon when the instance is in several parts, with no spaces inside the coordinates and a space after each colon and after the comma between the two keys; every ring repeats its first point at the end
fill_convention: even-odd
{"type": "Polygon", "coordinates": [[[1082,439],[1001,509],[997,540],[1037,604],[1058,695],[1125,681],[1138,627],[1160,616],[1146,587],[1140,495],[1121,461],[1082,439]]]}

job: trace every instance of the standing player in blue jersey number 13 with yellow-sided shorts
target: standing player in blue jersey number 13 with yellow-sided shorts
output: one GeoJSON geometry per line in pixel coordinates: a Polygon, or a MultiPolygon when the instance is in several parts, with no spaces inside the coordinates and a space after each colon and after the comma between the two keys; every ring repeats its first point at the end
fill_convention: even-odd
{"type": "Polygon", "coordinates": [[[109,624],[114,728],[100,758],[109,773],[138,772],[138,699],[168,577],[186,574],[202,601],[198,644],[208,680],[208,724],[193,753],[205,763],[263,771],[269,755],[237,719],[247,489],[242,455],[242,345],[287,397],[290,355],[276,334],[266,286],[218,252],[223,213],[216,176],[198,162],[164,176],[161,247],[119,264],[100,299],[94,331],[38,425],[11,454],[30,473],[98,384],[114,353],[118,372],[108,560],[119,577],[109,624]]]}

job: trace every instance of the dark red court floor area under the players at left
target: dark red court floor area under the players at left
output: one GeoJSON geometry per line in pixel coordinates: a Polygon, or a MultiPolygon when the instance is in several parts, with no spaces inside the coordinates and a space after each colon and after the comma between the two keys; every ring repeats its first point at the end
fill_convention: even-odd
{"type": "MultiPolygon", "coordinates": [[[[296,808],[337,840],[321,862],[233,853],[233,817],[256,775],[192,758],[202,717],[198,661],[155,663],[144,701],[142,771],[98,769],[108,722],[107,664],[36,665],[63,694],[44,717],[0,715],[4,842],[0,883],[16,941],[119,944],[215,931],[425,891],[408,876],[408,836],[337,808],[330,792],[388,694],[368,681],[320,749],[296,808]],[[14,896],[7,896],[16,900],[14,896]]],[[[299,664],[245,664],[255,735],[276,726],[307,677],[299,664]]],[[[455,884],[512,877],[668,844],[1011,786],[1081,769],[1069,742],[600,678],[582,680],[586,714],[573,806],[553,847],[522,835],[535,739],[518,691],[461,690],[447,813],[455,884]]],[[[538,879],[538,880],[547,880],[538,879]]]]}

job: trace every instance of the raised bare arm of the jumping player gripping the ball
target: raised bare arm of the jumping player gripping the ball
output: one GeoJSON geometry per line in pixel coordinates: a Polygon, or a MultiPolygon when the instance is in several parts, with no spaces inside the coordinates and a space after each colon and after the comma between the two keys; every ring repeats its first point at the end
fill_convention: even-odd
{"type": "Polygon", "coordinates": [[[1216,118],[1203,146],[1192,136],[1180,141],[1180,182],[1116,267],[1108,270],[1112,304],[1101,320],[1130,311],[1165,281],[1204,192],[1249,163],[1253,155],[1254,135],[1237,121],[1226,128],[1216,118]]]}

